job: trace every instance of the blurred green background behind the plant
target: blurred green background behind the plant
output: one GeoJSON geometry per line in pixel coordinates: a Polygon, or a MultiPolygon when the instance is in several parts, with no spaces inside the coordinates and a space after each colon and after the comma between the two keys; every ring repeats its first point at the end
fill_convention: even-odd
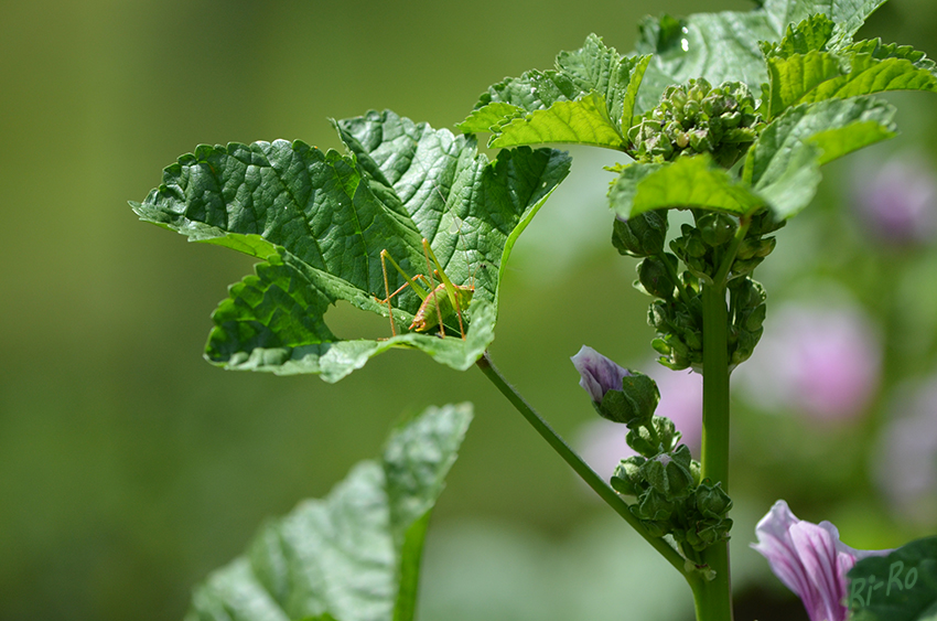
{"type": "MultiPolygon", "coordinates": [[[[401,414],[460,400],[475,403],[476,419],[428,542],[423,619],[688,619],[679,578],[610,518],[482,374],[416,352],[379,356],[337,385],[205,363],[209,313],[252,261],[143,225],[127,200],[142,200],[161,169],[198,143],[299,138],[337,148],[326,119],[371,108],[452,127],[489,84],[549,68],[590,32],[627,51],[645,13],[750,7],[3,2],[0,621],[180,619],[192,586],[239,554],[265,517],[326,493],[377,453],[401,414]],[[661,601],[637,615],[634,598],[647,592],[661,601]]],[[[934,56],[936,32],[931,0],[892,0],[863,34],[934,56]]],[[[905,133],[866,161],[908,149],[937,160],[937,100],[893,100],[905,133]]],[[[517,246],[493,346],[502,371],[571,438],[595,415],[569,356],[588,343],[631,366],[651,358],[648,300],[631,287],[633,261],[608,243],[601,167],[615,153],[573,156],[573,175],[517,246]],[[585,304],[607,309],[606,319],[581,315],[585,304]]],[[[757,276],[771,303],[811,296],[805,278],[840,282],[891,343],[890,330],[904,334],[907,322],[892,325],[904,315],[876,307],[886,285],[896,269],[913,272],[914,306],[935,289],[937,261],[925,245],[896,267],[894,254],[842,226],[854,165],[831,168],[817,204],[782,231],[788,268],[757,276]]],[[[902,308],[915,330],[933,333],[934,318],[902,308]]],[[[340,335],[384,330],[348,308],[329,320],[340,335]]],[[[787,618],[803,613],[746,548],[777,497],[800,517],[833,520],[854,547],[935,531],[933,518],[885,508],[868,459],[890,387],[935,371],[928,347],[916,357],[886,352],[882,388],[858,422],[817,431],[797,413],[765,414],[740,398],[734,571],[736,593],[754,608],[736,618],[767,619],[780,606],[791,606],[787,618]]]]}

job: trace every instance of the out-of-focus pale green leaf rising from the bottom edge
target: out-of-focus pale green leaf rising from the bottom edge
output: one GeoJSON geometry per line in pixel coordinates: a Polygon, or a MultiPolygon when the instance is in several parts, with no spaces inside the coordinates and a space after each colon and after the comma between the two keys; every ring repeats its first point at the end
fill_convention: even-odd
{"type": "Polygon", "coordinates": [[[429,408],[323,500],[265,525],[195,589],[186,621],[411,621],[430,511],[472,419],[429,408]]]}

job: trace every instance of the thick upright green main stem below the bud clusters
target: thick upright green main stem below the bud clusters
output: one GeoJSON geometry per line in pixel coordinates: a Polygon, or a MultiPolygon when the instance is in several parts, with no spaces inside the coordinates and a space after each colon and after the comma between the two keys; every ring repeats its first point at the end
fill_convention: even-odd
{"type": "MultiPolygon", "coordinates": [[[[721,483],[722,490],[729,493],[729,309],[724,276],[712,285],[703,286],[702,307],[702,477],[721,483]]],[[[707,548],[703,563],[715,571],[715,578],[693,589],[697,621],[731,621],[729,543],[707,548]]]]}

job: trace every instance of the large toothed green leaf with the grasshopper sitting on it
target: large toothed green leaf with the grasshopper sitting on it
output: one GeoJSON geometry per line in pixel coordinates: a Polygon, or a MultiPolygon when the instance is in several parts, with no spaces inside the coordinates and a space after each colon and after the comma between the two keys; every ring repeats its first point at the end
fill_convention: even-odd
{"type": "MultiPolygon", "coordinates": [[[[131,203],[141,220],[262,259],[215,312],[206,357],[227,368],[317,373],[327,382],[391,347],[467,368],[494,339],[510,249],[569,172],[569,157],[518,149],[489,163],[471,137],[389,111],[336,126],[351,156],[300,141],[202,146],[166,168],[143,203],[131,203]],[[450,279],[474,281],[466,339],[333,334],[323,318],[336,300],[387,315],[380,253],[411,276],[424,274],[423,238],[450,279]]],[[[391,291],[402,283],[392,270],[388,276],[391,291]]],[[[395,301],[402,331],[421,300],[406,290],[395,301]]],[[[457,336],[457,322],[450,323],[446,333],[457,336]]]]}

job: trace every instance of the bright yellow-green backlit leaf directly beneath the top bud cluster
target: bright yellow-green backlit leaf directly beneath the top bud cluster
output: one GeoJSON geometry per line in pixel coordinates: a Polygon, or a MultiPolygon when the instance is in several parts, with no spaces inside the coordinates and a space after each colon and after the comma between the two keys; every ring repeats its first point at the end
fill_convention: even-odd
{"type": "Polygon", "coordinates": [[[622,218],[650,210],[703,208],[735,215],[751,213],[764,201],[715,167],[708,154],[672,163],[633,163],[622,169],[608,191],[612,208],[622,218]]]}

